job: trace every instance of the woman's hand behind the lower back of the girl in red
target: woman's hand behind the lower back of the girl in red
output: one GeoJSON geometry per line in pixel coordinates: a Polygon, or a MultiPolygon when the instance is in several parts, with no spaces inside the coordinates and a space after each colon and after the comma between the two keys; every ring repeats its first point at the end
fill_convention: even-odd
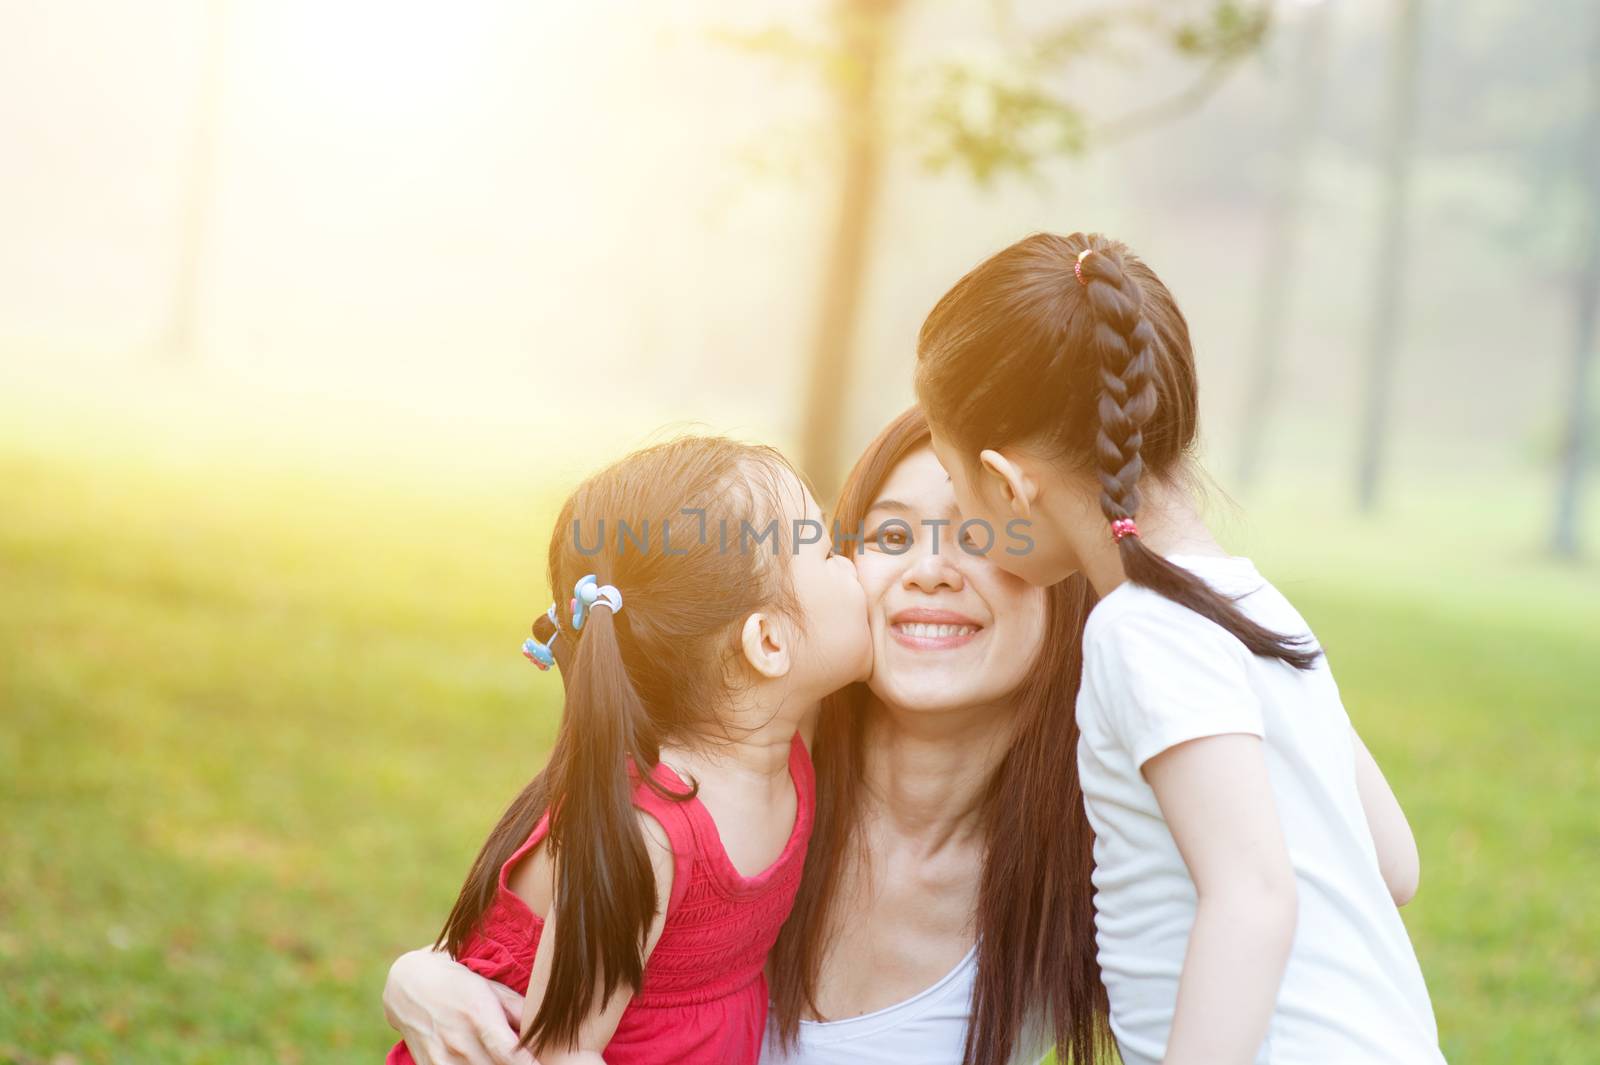
{"type": "Polygon", "coordinates": [[[424,947],[395,959],[384,1012],[416,1065],[538,1065],[517,1047],[522,995],[443,951],[424,947]]]}

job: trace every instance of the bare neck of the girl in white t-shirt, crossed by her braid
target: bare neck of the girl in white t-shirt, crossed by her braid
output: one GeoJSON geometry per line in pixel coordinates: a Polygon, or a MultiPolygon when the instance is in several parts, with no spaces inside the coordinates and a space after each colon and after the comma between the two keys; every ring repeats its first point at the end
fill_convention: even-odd
{"type": "MultiPolygon", "coordinates": [[[[1162,555],[1227,555],[1211,536],[1186,486],[1146,477],[1139,481],[1139,539],[1162,555]]],[[[1077,555],[1080,569],[1101,598],[1123,584],[1122,550],[1110,536],[1110,523],[1099,510],[1099,494],[1058,493],[1056,505],[1046,507],[1046,520],[1066,529],[1066,539],[1077,555]],[[1058,510],[1066,510],[1058,513],[1058,510]]]]}

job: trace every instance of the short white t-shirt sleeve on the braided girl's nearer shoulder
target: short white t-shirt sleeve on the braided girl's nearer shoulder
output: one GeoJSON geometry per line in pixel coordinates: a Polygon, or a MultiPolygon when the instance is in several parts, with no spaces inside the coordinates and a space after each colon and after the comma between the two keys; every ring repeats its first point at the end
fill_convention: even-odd
{"type": "Polygon", "coordinates": [[[1094,670],[1107,731],[1144,766],[1205,736],[1266,737],[1250,684],[1250,649],[1176,603],[1128,611],[1096,633],[1094,670]]]}

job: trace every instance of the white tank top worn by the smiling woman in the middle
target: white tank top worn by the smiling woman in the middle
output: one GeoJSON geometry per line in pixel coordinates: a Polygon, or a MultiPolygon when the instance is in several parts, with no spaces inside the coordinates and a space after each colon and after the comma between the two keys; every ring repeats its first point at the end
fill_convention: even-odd
{"type": "MultiPolygon", "coordinates": [[[[768,1023],[762,1065],[962,1065],[976,977],[973,947],[938,983],[901,1003],[846,1020],[802,1020],[790,1054],[768,1023]]],[[[1043,1057],[1032,1049],[1013,1060],[1035,1065],[1043,1057]]]]}

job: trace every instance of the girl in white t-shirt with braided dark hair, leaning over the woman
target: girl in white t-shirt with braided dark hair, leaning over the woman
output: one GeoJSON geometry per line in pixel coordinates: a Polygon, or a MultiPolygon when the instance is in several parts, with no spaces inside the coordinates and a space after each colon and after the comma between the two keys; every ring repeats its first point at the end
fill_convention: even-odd
{"type": "Polygon", "coordinates": [[[1038,233],[939,301],[917,357],[971,536],[1099,595],[1078,772],[1126,1065],[1442,1062],[1397,910],[1405,814],[1304,619],[1184,489],[1197,387],[1171,294],[1117,241],[1038,233]]]}

